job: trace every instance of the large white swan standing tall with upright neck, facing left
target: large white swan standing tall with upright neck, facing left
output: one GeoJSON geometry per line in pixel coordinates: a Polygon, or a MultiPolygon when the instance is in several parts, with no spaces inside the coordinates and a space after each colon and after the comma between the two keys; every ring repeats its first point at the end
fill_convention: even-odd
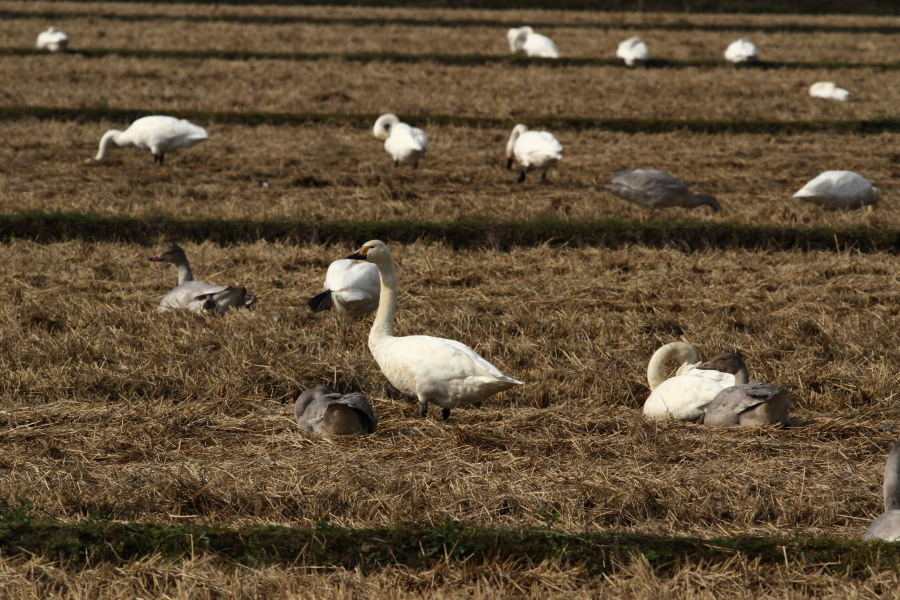
{"type": "Polygon", "coordinates": [[[446,421],[457,406],[522,384],[460,342],[430,335],[396,337],[397,266],[391,251],[384,242],[372,240],[347,258],[372,262],[381,273],[381,300],[369,332],[369,350],[391,385],[419,400],[420,417],[425,417],[431,402],[443,409],[446,421]]]}

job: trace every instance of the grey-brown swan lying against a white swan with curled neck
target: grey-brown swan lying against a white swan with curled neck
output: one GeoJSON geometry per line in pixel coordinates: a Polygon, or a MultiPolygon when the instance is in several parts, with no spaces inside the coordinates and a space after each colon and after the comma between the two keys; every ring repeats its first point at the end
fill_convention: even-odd
{"type": "Polygon", "coordinates": [[[724,352],[700,365],[734,375],[734,385],[719,392],[706,407],[701,423],[710,427],[787,425],[791,394],[769,383],[749,381],[747,365],[737,352],[724,352]]]}

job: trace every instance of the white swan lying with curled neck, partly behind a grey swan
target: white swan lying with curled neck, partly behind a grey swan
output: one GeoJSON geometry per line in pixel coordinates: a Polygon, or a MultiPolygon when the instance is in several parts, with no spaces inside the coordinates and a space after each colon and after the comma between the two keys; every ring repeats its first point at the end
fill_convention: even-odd
{"type": "Polygon", "coordinates": [[[696,421],[713,398],[734,385],[734,375],[699,368],[699,353],[685,342],[666,344],[653,353],[647,365],[650,396],[644,416],[651,419],[696,421]],[[682,363],[675,377],[666,378],[667,364],[682,363]]]}

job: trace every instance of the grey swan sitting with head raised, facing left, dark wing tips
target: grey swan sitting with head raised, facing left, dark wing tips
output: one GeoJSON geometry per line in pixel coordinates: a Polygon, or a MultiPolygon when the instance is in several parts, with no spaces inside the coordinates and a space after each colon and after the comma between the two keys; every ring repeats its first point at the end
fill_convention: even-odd
{"type": "Polygon", "coordinates": [[[160,312],[183,308],[196,313],[215,311],[221,315],[231,308],[250,308],[256,304],[256,296],[248,293],[242,286],[224,287],[205,281],[194,281],[194,273],[191,271],[187,255],[177,244],[172,244],[156,256],[151,256],[149,260],[172,263],[178,267],[178,285],[160,300],[160,312]]]}

